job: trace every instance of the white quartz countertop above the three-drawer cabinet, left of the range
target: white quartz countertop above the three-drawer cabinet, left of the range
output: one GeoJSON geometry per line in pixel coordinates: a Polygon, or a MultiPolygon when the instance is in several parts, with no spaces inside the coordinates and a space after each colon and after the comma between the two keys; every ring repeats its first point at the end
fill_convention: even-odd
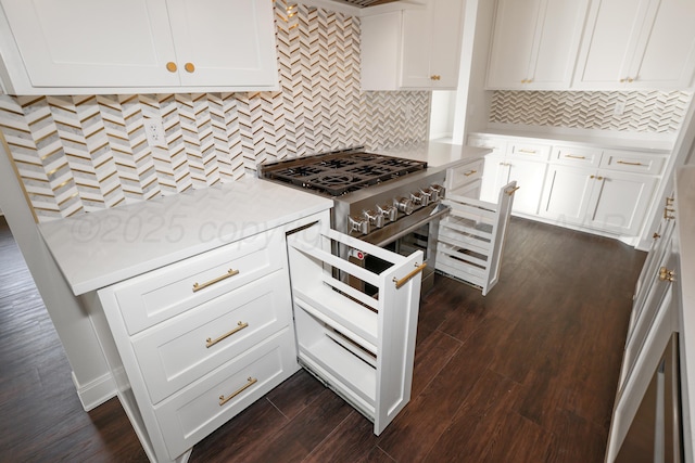
{"type": "Polygon", "coordinates": [[[75,295],[332,207],[330,198],[244,178],[39,224],[75,295]]]}

